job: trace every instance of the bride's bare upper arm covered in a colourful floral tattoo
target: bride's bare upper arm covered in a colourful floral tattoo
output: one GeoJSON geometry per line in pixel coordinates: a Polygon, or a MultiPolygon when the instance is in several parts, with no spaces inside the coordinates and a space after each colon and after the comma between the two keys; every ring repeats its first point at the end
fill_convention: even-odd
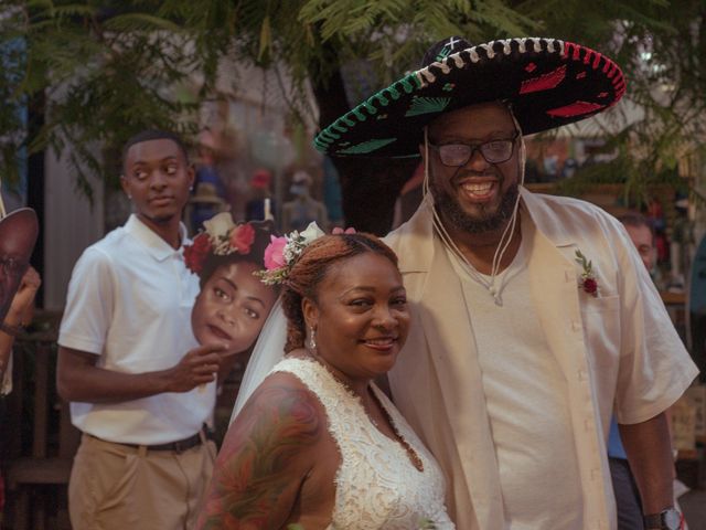
{"type": "Polygon", "coordinates": [[[265,385],[228,430],[216,460],[200,529],[279,528],[308,471],[304,449],[320,438],[315,398],[265,385]]]}

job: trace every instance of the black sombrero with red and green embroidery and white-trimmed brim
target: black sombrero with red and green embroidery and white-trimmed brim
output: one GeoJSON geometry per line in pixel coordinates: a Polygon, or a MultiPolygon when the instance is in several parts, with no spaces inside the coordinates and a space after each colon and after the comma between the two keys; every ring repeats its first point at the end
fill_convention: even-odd
{"type": "Polygon", "coordinates": [[[531,135],[598,114],[624,92],[620,67],[579,44],[526,38],[472,46],[453,36],[431,46],[420,70],[323,129],[314,145],[333,156],[413,157],[424,127],[458,108],[504,100],[531,135]]]}

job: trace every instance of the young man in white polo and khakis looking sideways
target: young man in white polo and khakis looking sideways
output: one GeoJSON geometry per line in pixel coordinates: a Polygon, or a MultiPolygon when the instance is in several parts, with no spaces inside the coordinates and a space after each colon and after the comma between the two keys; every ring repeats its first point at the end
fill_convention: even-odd
{"type": "Polygon", "coordinates": [[[199,279],[184,266],[181,215],[194,171],[173,134],[124,149],[127,223],[86,248],[60,330],[57,386],[82,432],[68,488],[74,530],[191,528],[214,447],[218,346],[199,347],[199,279]]]}

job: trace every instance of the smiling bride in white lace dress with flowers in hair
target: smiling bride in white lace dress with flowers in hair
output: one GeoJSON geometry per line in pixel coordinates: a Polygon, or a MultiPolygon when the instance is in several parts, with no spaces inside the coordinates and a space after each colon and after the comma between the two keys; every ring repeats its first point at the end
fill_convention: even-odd
{"type": "Polygon", "coordinates": [[[197,528],[452,529],[437,463],[372,382],[409,326],[395,254],[365,234],[288,241],[264,275],[284,285],[287,356],[231,425],[197,528]]]}

